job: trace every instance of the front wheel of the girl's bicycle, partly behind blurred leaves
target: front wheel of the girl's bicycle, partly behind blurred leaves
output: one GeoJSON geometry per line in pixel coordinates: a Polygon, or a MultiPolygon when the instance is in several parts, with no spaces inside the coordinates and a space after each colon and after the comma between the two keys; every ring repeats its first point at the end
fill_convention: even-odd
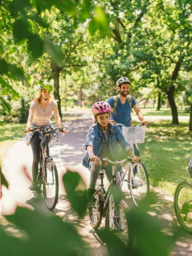
{"type": "Polygon", "coordinates": [[[105,227],[108,230],[112,230],[125,245],[128,245],[130,244],[130,239],[126,211],[128,211],[127,204],[124,201],[120,201],[120,203],[116,205],[113,195],[111,195],[105,218],[105,227]]]}

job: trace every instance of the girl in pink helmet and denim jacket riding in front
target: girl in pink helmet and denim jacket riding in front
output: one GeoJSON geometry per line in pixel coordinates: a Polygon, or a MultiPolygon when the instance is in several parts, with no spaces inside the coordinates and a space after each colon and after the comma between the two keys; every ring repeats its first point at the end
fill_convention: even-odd
{"type": "MultiPolygon", "coordinates": [[[[105,101],[99,101],[92,106],[95,116],[95,124],[91,125],[86,137],[85,148],[87,150],[82,164],[91,171],[90,184],[88,188],[88,200],[90,201],[94,192],[102,164],[99,158],[108,157],[114,161],[121,158],[119,143],[127,151],[128,156],[134,161],[139,161],[138,156],[133,156],[130,145],[126,142],[122,130],[118,125],[110,123],[111,107],[105,101]]],[[[112,167],[105,166],[106,176],[109,182],[112,177],[112,167]]],[[[118,182],[119,177],[116,177],[118,182]]]]}

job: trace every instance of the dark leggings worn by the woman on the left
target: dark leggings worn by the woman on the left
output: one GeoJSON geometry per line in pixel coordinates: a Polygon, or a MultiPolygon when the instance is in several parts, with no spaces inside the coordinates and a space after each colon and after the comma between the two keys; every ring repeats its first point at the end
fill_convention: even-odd
{"type": "MultiPolygon", "coordinates": [[[[48,142],[51,140],[51,136],[48,136],[48,142]]],[[[39,138],[39,132],[35,131],[31,141],[30,145],[32,147],[33,151],[33,163],[32,163],[32,176],[33,176],[33,182],[36,182],[37,180],[37,173],[38,173],[38,164],[40,161],[40,145],[41,145],[41,150],[44,152],[45,150],[45,136],[43,136],[42,140],[39,138]]]]}

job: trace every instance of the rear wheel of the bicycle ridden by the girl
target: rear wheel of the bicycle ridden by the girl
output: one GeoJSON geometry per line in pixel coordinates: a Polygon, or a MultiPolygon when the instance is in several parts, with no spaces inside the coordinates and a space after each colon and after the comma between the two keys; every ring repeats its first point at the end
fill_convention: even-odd
{"type": "Polygon", "coordinates": [[[100,185],[96,184],[96,191],[94,194],[94,202],[90,203],[89,207],[89,218],[91,222],[91,226],[94,229],[97,229],[101,225],[102,221],[102,207],[104,206],[104,202],[102,200],[102,195],[101,195],[101,188],[100,185]]]}

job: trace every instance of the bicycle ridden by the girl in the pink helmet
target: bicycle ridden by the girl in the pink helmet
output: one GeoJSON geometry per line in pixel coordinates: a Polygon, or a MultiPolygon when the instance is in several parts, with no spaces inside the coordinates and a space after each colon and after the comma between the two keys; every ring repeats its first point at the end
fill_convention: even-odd
{"type": "Polygon", "coordinates": [[[114,233],[125,243],[130,244],[128,235],[128,223],[126,211],[128,205],[125,201],[115,202],[113,191],[119,189],[124,179],[122,165],[127,162],[133,162],[132,158],[127,158],[123,161],[111,161],[108,158],[101,158],[102,164],[112,165],[112,181],[109,188],[105,191],[104,188],[104,173],[105,170],[100,170],[101,184],[97,181],[96,191],[93,200],[89,205],[89,217],[93,228],[98,228],[101,225],[101,220],[105,217],[106,229],[113,230],[114,233]],[[116,184],[116,174],[119,175],[119,182],[116,184]]]}

